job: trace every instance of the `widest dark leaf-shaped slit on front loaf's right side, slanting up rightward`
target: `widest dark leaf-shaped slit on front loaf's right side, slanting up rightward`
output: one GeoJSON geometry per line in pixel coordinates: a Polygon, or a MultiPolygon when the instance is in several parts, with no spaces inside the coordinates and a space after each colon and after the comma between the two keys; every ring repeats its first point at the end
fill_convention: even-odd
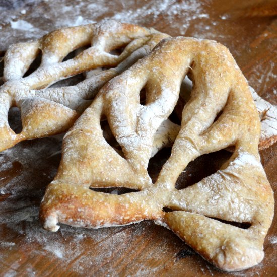
{"type": "Polygon", "coordinates": [[[231,156],[232,153],[223,149],[196,158],[179,175],[175,183],[175,188],[186,188],[214,174],[231,156]]]}

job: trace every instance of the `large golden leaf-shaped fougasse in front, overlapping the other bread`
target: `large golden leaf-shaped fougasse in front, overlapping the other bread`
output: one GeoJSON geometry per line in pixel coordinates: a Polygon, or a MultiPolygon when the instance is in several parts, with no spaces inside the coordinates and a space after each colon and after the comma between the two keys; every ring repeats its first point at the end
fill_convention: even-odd
{"type": "Polygon", "coordinates": [[[58,230],[58,222],[100,228],[151,219],[222,270],[251,267],[264,256],[274,201],[260,163],[259,137],[260,119],[249,86],[228,49],[209,40],[167,38],[109,81],[66,133],[40,218],[51,231],[58,230]],[[147,167],[155,136],[172,113],[187,74],[194,84],[191,96],[171,156],[153,184],[147,167]],[[143,88],[145,105],[140,104],[143,88]],[[124,157],[103,137],[103,117],[124,157]],[[216,173],[175,188],[190,161],[231,146],[233,155],[216,173]],[[90,187],[139,191],[113,195],[90,187]],[[163,207],[178,211],[164,213],[163,207]],[[251,226],[241,229],[216,219],[251,226]]]}

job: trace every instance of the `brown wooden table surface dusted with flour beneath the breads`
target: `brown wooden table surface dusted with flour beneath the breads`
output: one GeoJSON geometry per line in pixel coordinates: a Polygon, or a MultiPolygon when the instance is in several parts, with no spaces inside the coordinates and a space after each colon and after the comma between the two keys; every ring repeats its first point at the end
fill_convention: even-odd
{"type": "MultiPolygon", "coordinates": [[[[277,104],[276,0],[56,2],[0,1],[0,53],[12,43],[62,26],[114,18],[172,36],[223,43],[257,93],[277,104]]],[[[10,115],[11,124],[18,124],[17,111],[10,115]]],[[[277,276],[277,216],[265,239],[264,260],[229,274],[151,221],[97,230],[62,225],[57,233],[42,229],[39,204],[56,173],[61,140],[62,135],[26,141],[0,153],[0,276],[277,276]]],[[[163,150],[151,161],[153,178],[168,153],[163,150]]],[[[260,155],[277,195],[277,144],[260,155]]],[[[193,183],[215,172],[229,156],[222,150],[199,157],[189,164],[181,182],[193,183]]]]}

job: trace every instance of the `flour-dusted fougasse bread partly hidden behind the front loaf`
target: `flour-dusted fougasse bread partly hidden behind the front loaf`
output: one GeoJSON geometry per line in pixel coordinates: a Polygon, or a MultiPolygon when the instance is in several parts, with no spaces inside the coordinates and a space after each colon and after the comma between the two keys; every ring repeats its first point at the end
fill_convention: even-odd
{"type": "Polygon", "coordinates": [[[165,37],[168,35],[154,29],[111,20],[59,29],[39,40],[10,46],[4,58],[4,84],[0,87],[0,151],[23,140],[67,130],[108,80],[149,53],[165,37]],[[89,48],[63,61],[80,47],[89,48]],[[112,50],[121,47],[125,49],[120,55],[112,54],[112,50]],[[39,68],[24,77],[40,53],[39,68]],[[101,67],[110,69],[87,75],[75,86],[47,88],[101,67]],[[21,111],[23,129],[19,134],[8,123],[12,106],[21,111]]]}

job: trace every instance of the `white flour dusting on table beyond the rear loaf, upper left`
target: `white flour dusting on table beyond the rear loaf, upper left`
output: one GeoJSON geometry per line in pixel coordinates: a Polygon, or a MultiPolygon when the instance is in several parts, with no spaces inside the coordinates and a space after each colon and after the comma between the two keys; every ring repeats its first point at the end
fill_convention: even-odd
{"type": "Polygon", "coordinates": [[[54,0],[44,1],[43,5],[35,0],[29,0],[28,3],[32,4],[28,9],[19,0],[14,4],[18,9],[7,10],[0,6],[0,27],[4,28],[0,37],[0,50],[7,49],[19,40],[36,39],[57,28],[95,23],[99,19],[115,19],[152,27],[152,22],[163,16],[176,35],[184,35],[191,21],[209,18],[196,0],[131,0],[121,1],[122,5],[108,0],[90,3],[61,0],[58,6],[54,0]],[[196,18],[195,14],[199,16],[196,18]],[[179,18],[182,18],[181,23],[177,20],[179,18]]]}

